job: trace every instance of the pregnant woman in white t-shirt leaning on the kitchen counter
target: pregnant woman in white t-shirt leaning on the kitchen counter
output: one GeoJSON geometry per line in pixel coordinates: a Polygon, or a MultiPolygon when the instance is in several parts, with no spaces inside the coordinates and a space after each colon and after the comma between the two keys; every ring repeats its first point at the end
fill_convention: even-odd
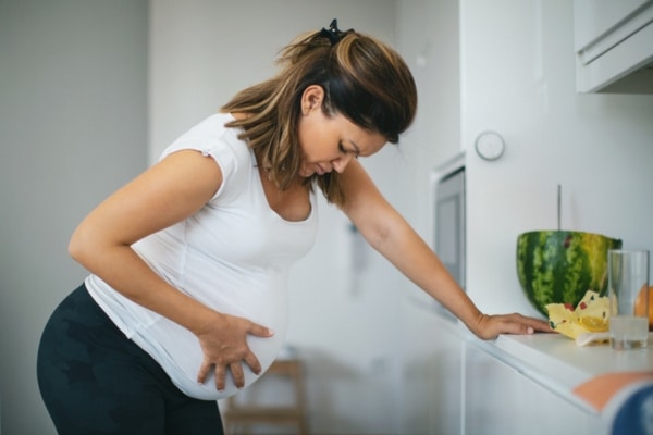
{"type": "Polygon", "coordinates": [[[222,433],[215,400],[283,345],[287,273],[313,244],[317,191],[479,337],[549,331],[481,313],[357,161],[415,116],[395,51],[334,21],[279,63],[74,232],[71,256],[90,275],[52,314],[37,365],[60,433],[222,433]]]}

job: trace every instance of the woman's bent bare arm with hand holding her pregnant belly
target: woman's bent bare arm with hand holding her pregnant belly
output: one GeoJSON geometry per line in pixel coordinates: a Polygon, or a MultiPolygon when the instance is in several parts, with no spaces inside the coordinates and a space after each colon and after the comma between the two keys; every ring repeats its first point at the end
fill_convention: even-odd
{"type": "Polygon", "coordinates": [[[222,184],[213,159],[197,151],[178,151],[111,195],[75,229],[71,256],[115,290],[192,331],[205,359],[198,381],[215,371],[224,389],[227,368],[237,386],[244,385],[241,361],[260,372],[246,335],[272,333],[245,319],[219,313],[172,287],[131,248],[132,244],[197,212],[222,184]]]}

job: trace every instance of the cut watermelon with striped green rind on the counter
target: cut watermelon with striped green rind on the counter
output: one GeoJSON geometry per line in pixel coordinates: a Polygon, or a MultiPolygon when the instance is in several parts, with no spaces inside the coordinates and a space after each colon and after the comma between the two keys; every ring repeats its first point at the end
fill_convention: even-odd
{"type": "Polygon", "coordinates": [[[534,231],[517,238],[517,275],[533,307],[544,314],[549,303],[576,307],[586,291],[607,289],[607,251],[621,240],[571,231],[534,231]]]}

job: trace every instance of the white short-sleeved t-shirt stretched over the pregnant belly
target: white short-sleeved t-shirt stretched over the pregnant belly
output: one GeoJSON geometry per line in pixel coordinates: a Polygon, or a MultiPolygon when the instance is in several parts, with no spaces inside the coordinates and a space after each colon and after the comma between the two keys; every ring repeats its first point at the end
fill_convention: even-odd
{"type": "MultiPolygon", "coordinates": [[[[243,316],[274,331],[271,338],[249,336],[248,345],[263,371],[279,353],[287,323],[287,274],[312,246],[317,201],[301,222],[288,222],[270,209],[254,152],[226,128],[233,120],[215,114],[175,140],[162,157],[193,149],[215,160],[223,183],[196,214],[133,245],[167,282],[217,311],[243,316]]],[[[149,355],[186,395],[219,399],[236,391],[231,376],[218,391],[213,375],[197,383],[202,352],[197,337],[109,287],[95,275],[86,286],[120,330],[149,355]]],[[[243,363],[245,383],[258,376],[243,363]]]]}

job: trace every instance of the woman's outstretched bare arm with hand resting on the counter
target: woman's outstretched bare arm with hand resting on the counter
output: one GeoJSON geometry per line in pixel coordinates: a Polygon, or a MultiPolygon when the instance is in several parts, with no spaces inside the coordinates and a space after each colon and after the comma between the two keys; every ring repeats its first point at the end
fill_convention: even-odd
{"type": "Polygon", "coordinates": [[[429,246],[383,198],[359,162],[347,165],[342,181],[346,198],[343,211],[366,240],[477,336],[490,339],[502,333],[551,331],[546,322],[520,314],[483,314],[429,246]]]}

